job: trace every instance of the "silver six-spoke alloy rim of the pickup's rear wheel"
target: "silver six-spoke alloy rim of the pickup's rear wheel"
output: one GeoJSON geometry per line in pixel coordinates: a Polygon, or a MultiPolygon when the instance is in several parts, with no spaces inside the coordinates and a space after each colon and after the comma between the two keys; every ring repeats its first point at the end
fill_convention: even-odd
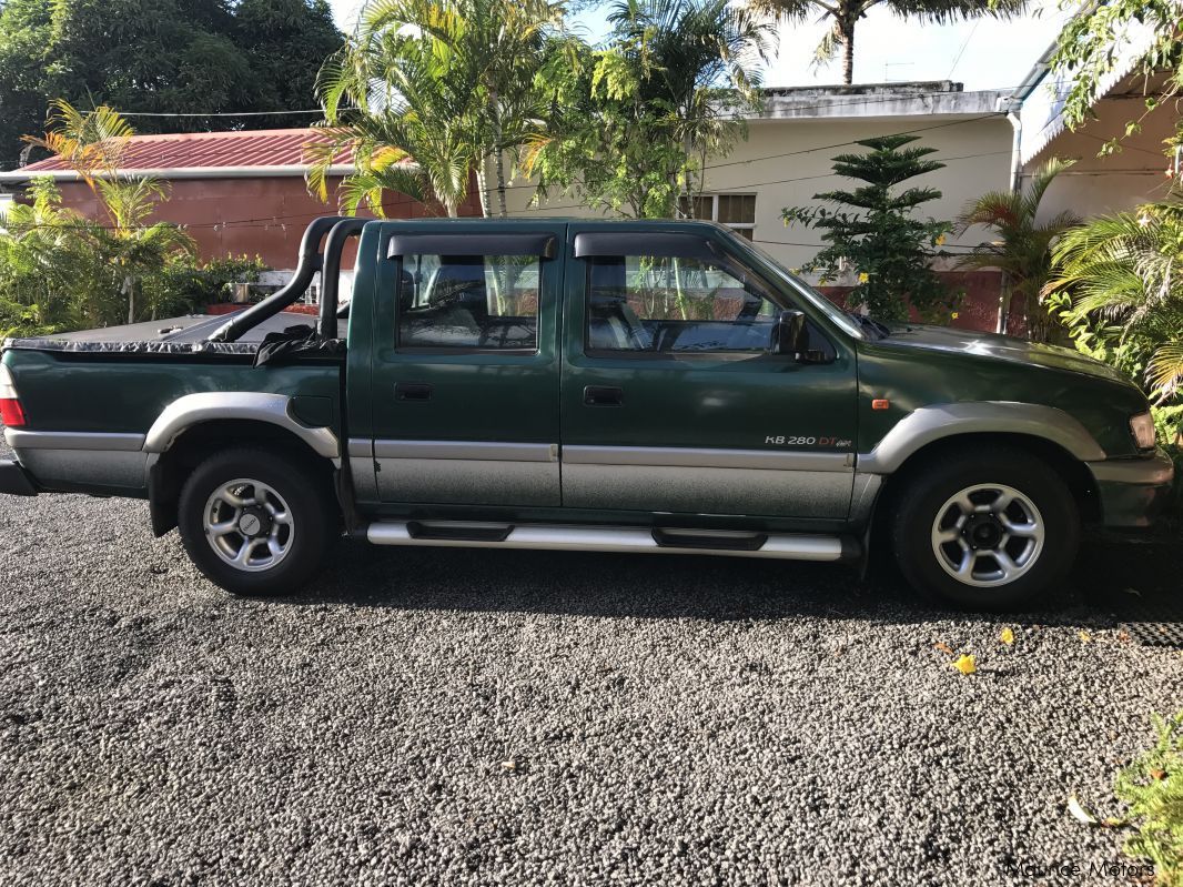
{"type": "Polygon", "coordinates": [[[238,478],[219,486],[202,513],[206,539],[225,563],[244,572],[277,566],[291,551],[291,509],[271,486],[238,478]]]}

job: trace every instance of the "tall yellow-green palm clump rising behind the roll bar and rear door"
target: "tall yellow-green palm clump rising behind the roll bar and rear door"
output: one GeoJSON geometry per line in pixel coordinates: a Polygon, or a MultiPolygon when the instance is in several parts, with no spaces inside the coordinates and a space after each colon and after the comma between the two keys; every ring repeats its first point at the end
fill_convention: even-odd
{"type": "Polygon", "coordinates": [[[534,78],[555,0],[377,0],[357,33],[321,72],[330,140],[313,147],[310,187],[327,198],[324,175],[342,149],[355,170],[342,207],[382,214],[382,192],[438,201],[455,215],[476,174],[490,215],[485,170],[497,174],[505,207],[504,153],[538,127],[534,78]]]}

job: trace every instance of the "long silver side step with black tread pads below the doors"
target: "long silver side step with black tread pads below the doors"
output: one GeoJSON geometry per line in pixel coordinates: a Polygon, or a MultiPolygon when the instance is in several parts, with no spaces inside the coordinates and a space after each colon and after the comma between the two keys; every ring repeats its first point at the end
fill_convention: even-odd
{"type": "Polygon", "coordinates": [[[639,526],[484,524],[453,520],[382,520],[366,529],[375,545],[538,549],[545,551],[636,551],[654,555],[728,555],[786,561],[842,561],[859,545],[839,536],[652,530],[639,526]]]}

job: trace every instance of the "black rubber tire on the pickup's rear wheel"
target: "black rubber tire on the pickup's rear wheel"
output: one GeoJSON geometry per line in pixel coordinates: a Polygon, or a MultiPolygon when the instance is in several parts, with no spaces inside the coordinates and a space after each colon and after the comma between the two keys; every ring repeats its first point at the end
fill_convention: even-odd
{"type": "Polygon", "coordinates": [[[193,471],[181,488],[177,525],[189,558],[215,585],[235,595],[280,595],[297,590],[316,574],[337,526],[335,511],[325,478],[306,460],[244,447],[215,453],[193,471]],[[221,499],[211,504],[215,492],[238,480],[258,485],[234,485],[245,507],[221,499]],[[244,524],[246,514],[251,518],[244,524]],[[258,535],[247,536],[240,529],[207,532],[207,520],[215,529],[234,523],[258,535]],[[282,556],[271,548],[271,531],[282,556]],[[234,565],[227,558],[248,539],[254,543],[246,561],[234,565]]]}

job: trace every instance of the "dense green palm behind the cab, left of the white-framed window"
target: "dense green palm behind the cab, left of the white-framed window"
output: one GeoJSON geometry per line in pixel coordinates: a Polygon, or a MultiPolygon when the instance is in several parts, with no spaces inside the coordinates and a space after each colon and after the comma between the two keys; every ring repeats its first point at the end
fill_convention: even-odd
{"type": "Polygon", "coordinates": [[[771,28],[729,0],[615,0],[606,46],[556,39],[538,77],[547,127],[525,169],[633,218],[670,218],[702,188],[709,154],[744,134],[771,28]]]}

